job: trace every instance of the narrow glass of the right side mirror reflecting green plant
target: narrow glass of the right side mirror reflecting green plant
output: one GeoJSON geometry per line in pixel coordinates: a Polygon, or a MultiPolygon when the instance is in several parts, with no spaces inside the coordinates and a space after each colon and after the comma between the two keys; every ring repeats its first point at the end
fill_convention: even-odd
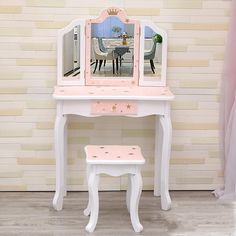
{"type": "Polygon", "coordinates": [[[161,78],[162,37],[150,27],[145,27],[144,76],[161,78]]]}

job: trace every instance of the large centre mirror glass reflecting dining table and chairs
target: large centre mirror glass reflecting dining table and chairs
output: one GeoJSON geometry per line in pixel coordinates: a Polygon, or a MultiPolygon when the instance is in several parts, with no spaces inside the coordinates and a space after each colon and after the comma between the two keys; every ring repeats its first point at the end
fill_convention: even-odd
{"type": "Polygon", "coordinates": [[[134,24],[110,16],[91,24],[91,75],[132,77],[134,66],[134,24]]]}

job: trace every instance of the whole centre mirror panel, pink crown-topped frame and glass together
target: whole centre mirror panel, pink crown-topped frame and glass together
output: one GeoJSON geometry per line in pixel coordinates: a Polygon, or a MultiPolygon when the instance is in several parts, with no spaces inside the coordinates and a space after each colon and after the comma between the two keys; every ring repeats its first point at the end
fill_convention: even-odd
{"type": "Polygon", "coordinates": [[[86,84],[138,84],[139,23],[108,9],[86,23],[86,84]]]}

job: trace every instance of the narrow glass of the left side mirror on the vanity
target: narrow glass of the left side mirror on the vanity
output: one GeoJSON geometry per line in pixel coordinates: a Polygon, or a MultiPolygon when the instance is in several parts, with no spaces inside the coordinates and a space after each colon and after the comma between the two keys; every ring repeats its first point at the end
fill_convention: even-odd
{"type": "Polygon", "coordinates": [[[63,74],[74,77],[80,74],[80,26],[63,37],[63,74]]]}

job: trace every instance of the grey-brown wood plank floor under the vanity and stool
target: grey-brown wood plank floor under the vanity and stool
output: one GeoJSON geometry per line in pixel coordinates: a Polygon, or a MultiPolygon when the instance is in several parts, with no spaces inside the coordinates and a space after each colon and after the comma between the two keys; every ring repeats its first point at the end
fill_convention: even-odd
{"type": "MultiPolygon", "coordinates": [[[[94,233],[84,230],[87,192],[69,192],[64,209],[52,208],[53,192],[1,192],[0,235],[132,236],[125,192],[100,192],[94,233]]],[[[145,236],[235,236],[236,204],[222,205],[209,191],[172,191],[172,209],[160,210],[160,198],[144,191],[139,215],[145,236]]]]}

